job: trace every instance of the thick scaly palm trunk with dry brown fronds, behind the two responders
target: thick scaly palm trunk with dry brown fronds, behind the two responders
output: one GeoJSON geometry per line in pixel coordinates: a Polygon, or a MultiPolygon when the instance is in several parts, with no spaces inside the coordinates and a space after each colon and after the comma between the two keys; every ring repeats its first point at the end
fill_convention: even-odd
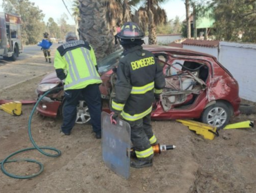
{"type": "Polygon", "coordinates": [[[116,50],[116,26],[131,20],[129,0],[78,0],[80,39],[86,39],[99,59],[116,50]]]}

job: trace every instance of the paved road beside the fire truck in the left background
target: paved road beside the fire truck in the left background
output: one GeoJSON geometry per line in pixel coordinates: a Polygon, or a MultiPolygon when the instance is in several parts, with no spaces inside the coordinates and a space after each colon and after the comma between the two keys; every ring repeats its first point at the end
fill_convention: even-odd
{"type": "MultiPolygon", "coordinates": [[[[51,47],[52,61],[54,61],[55,50],[59,45],[54,43],[51,47]]],[[[0,59],[0,90],[53,70],[53,63],[45,62],[44,54],[39,46],[25,46],[24,52],[19,55],[17,61],[0,59]]]]}

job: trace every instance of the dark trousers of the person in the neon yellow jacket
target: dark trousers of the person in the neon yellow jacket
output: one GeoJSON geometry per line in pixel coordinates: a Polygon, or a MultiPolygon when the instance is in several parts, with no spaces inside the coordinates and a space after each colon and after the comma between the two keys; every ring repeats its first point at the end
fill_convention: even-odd
{"type": "Polygon", "coordinates": [[[88,105],[91,115],[91,125],[93,126],[93,132],[101,132],[101,96],[98,84],[87,85],[86,88],[78,90],[66,90],[65,91],[65,105],[63,112],[62,132],[71,132],[75,125],[75,119],[77,116],[77,103],[82,99],[88,105]]]}

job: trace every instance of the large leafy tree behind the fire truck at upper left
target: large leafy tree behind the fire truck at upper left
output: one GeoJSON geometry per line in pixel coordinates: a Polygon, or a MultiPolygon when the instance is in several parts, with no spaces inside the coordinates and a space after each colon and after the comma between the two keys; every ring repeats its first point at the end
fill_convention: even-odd
{"type": "Polygon", "coordinates": [[[28,0],[3,0],[5,12],[21,15],[21,39],[26,44],[35,44],[40,39],[45,29],[44,14],[28,0]]]}

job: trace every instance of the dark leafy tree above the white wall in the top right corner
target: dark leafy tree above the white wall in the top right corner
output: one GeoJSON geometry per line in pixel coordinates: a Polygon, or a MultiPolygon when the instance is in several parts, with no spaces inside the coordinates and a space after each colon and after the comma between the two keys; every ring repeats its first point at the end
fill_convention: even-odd
{"type": "Polygon", "coordinates": [[[214,8],[217,39],[256,42],[256,0],[212,0],[210,7],[214,8]]]}

